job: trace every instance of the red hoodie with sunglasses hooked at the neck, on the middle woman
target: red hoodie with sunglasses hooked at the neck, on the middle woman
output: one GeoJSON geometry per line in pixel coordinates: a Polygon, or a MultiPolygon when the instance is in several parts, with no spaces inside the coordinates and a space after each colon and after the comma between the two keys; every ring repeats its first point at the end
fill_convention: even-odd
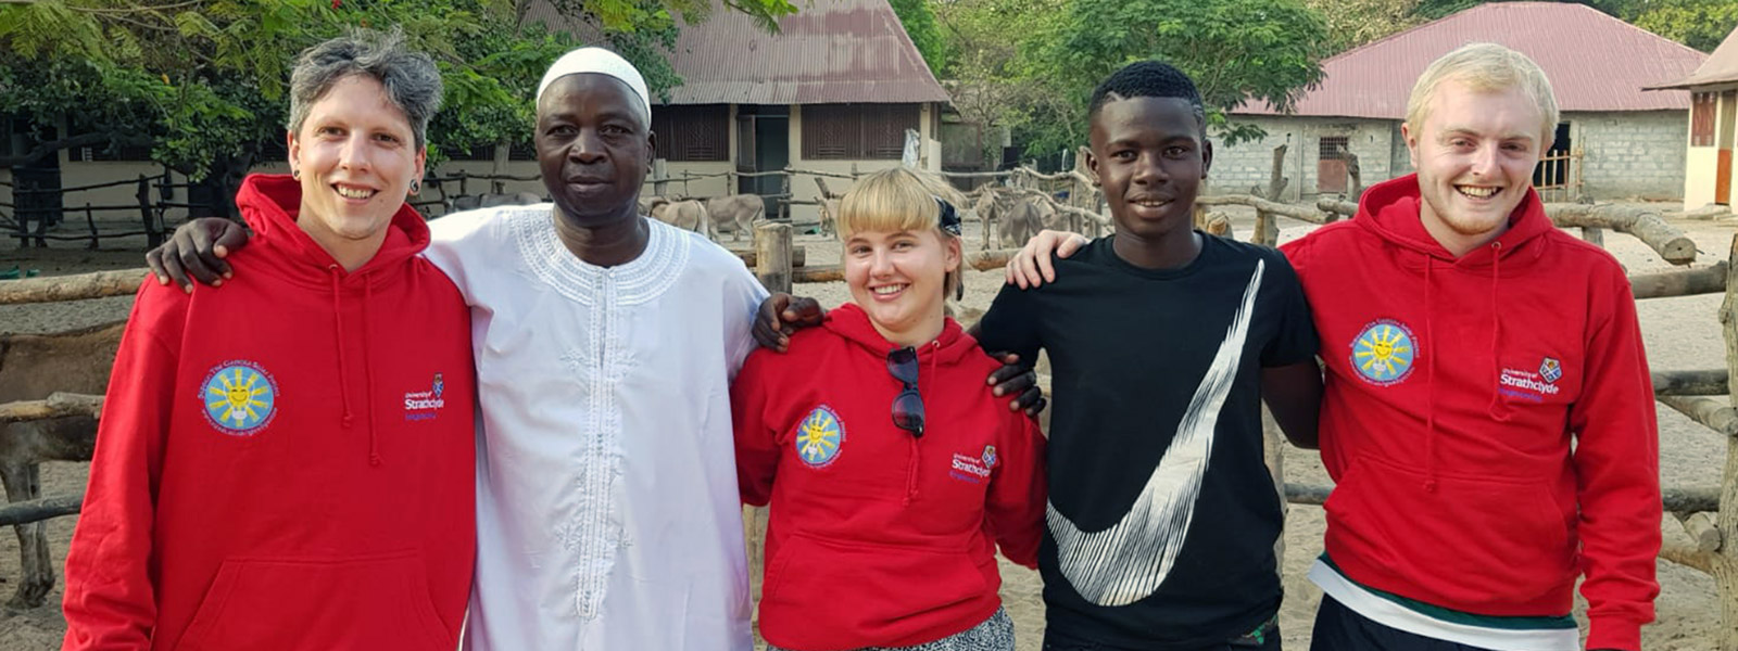
{"type": "Polygon", "coordinates": [[[919,439],[893,425],[895,347],[845,304],[793,335],[791,352],[749,354],[732,384],[742,500],[772,502],[760,602],[770,644],[933,642],[1001,608],[996,543],[1038,566],[1045,439],[991,396],[996,361],[952,319],[918,347],[919,439]]]}

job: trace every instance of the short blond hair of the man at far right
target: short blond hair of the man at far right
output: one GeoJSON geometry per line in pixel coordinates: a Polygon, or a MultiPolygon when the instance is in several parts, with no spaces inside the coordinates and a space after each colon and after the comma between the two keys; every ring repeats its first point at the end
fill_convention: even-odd
{"type": "Polygon", "coordinates": [[[1521,89],[1543,118],[1540,125],[1540,151],[1550,149],[1557,135],[1557,97],[1550,80],[1526,54],[1496,43],[1467,43],[1430,62],[1418,75],[1411,97],[1406,99],[1406,125],[1416,134],[1430,116],[1430,99],[1444,82],[1465,83],[1472,90],[1498,92],[1521,89]]]}

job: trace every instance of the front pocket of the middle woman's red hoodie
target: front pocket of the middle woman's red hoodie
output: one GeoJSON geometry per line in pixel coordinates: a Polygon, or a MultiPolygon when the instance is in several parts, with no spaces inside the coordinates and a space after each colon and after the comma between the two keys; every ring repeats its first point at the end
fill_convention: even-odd
{"type": "Polygon", "coordinates": [[[982,599],[996,599],[996,592],[965,549],[794,533],[768,571],[760,618],[780,646],[833,648],[869,632],[899,637],[923,630],[982,599]]]}

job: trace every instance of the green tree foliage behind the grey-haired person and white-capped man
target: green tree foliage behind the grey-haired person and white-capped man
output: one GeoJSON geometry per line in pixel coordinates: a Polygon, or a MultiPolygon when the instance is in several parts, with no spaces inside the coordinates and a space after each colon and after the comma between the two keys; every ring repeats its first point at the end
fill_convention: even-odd
{"type": "MultiPolygon", "coordinates": [[[[151,144],[155,160],[195,179],[233,181],[283,142],[295,52],[353,26],[405,31],[447,82],[431,153],[521,142],[542,69],[579,40],[527,24],[527,0],[38,0],[0,5],[0,115],[36,127],[38,146],[3,165],[66,146],[151,144]],[[269,151],[269,149],[268,149],[269,151]]],[[[680,21],[707,0],[554,0],[666,92],[664,59],[680,21]]],[[[725,0],[775,28],[787,0],[725,0]]]]}

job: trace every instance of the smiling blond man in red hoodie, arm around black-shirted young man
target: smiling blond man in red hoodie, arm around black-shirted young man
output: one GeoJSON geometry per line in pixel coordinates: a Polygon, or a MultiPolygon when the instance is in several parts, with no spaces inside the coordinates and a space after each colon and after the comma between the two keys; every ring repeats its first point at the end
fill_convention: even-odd
{"type": "MultiPolygon", "coordinates": [[[[1557,106],[1491,43],[1418,78],[1415,175],[1283,247],[1326,366],[1337,481],[1314,649],[1641,649],[1660,550],[1658,425],[1618,262],[1556,227],[1531,189],[1557,106]]],[[[1012,279],[1053,278],[1058,234],[1012,279]]],[[[1058,255],[1078,248],[1071,240],[1058,255]]]]}

